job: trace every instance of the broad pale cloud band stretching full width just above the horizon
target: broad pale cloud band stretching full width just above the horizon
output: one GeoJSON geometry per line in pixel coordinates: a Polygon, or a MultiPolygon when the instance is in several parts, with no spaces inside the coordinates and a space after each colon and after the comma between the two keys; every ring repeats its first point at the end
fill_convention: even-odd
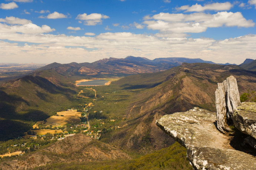
{"type": "Polygon", "coordinates": [[[134,33],[102,33],[95,37],[0,33],[0,39],[39,43],[39,45],[18,46],[8,43],[6,45],[5,42],[0,41],[0,55],[3,61],[4,58],[18,58],[21,55],[26,56],[30,62],[35,59],[35,55],[42,61],[52,61],[54,55],[56,56],[54,59],[58,62],[93,62],[102,58],[121,58],[127,55],[150,59],[158,56],[178,56],[201,58],[218,63],[232,61],[236,64],[242,63],[246,57],[256,59],[256,35],[216,41],[211,38],[163,38],[134,33]]]}

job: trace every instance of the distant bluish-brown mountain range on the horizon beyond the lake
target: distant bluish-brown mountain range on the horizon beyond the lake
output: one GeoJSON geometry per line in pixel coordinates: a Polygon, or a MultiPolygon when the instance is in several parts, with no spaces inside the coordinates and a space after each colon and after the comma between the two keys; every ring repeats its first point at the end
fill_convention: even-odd
{"type": "MultiPolygon", "coordinates": [[[[153,60],[128,56],[126,58],[105,58],[92,63],[76,63],[69,64],[52,63],[36,69],[35,71],[42,71],[46,69],[53,69],[62,75],[72,76],[126,76],[129,74],[150,73],[165,71],[167,69],[186,63],[210,63],[216,64],[211,61],[204,61],[200,58],[156,58],[153,60]]],[[[229,63],[223,65],[230,65],[229,63]]]]}

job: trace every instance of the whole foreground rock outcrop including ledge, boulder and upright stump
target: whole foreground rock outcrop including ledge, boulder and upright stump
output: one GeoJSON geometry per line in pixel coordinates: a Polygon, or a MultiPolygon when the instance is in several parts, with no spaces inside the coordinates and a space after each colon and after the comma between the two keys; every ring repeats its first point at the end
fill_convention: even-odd
{"type": "Polygon", "coordinates": [[[234,149],[230,145],[232,136],[225,132],[230,130],[228,123],[234,122],[237,129],[252,136],[249,136],[247,143],[253,143],[256,133],[256,104],[240,104],[237,101],[239,93],[233,76],[218,85],[216,107],[221,114],[196,107],[187,112],[165,115],[156,124],[187,148],[188,160],[195,169],[253,170],[256,167],[255,156],[234,149]],[[221,122],[225,126],[219,129],[221,126],[218,123],[221,122]]]}

